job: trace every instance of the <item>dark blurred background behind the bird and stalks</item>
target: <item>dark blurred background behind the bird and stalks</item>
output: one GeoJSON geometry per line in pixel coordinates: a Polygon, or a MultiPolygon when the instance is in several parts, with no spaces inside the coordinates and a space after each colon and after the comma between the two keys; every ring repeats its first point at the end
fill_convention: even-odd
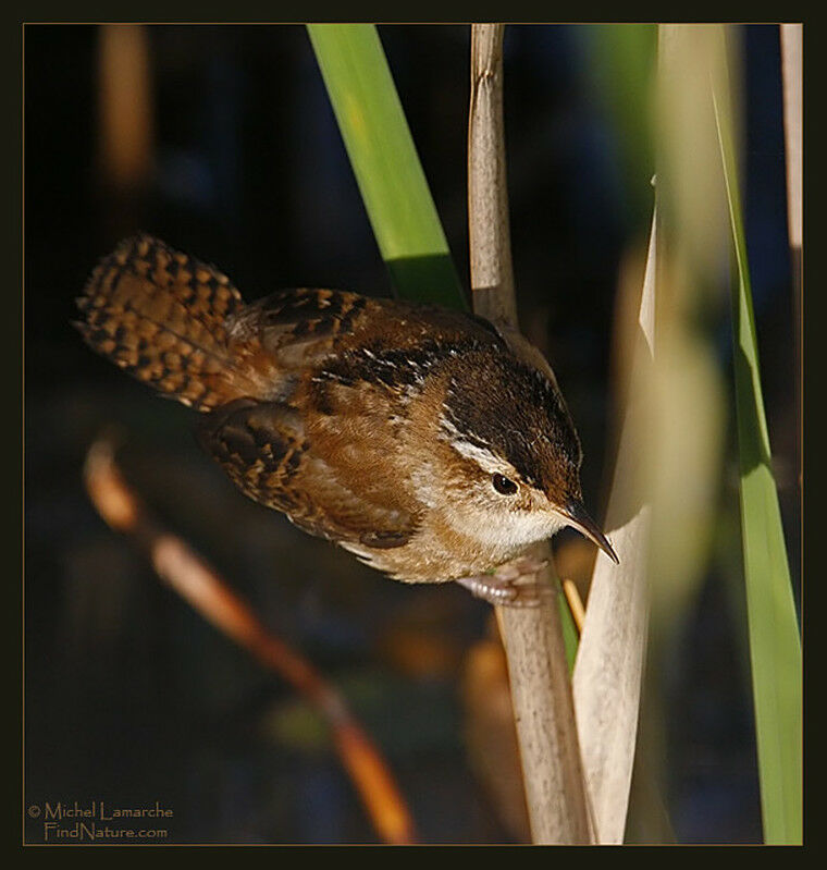
{"type": "MultiPolygon", "coordinates": [[[[618,106],[645,113],[655,30],[637,32],[626,69],[640,77],[628,81],[606,63],[609,30],[509,26],[505,40],[521,324],[577,421],[597,515],[616,439],[618,285],[646,242],[654,172],[634,113],[618,106]]],[[[467,286],[469,27],[379,32],[467,286]]],[[[746,233],[798,601],[798,313],[778,27],[742,38],[746,233]]],[[[73,330],[98,258],[138,230],[214,262],[250,301],[288,286],[391,293],[304,27],[25,28],[26,802],[158,800],[174,811],[178,843],[377,838],[313,711],[97,515],[82,469],[110,429],[151,510],[343,691],[421,841],[520,842],[487,605],[450,585],[390,581],[247,501],[197,446],[190,412],[152,397],[73,330]]],[[[715,540],[671,614],[657,675],[663,831],[689,843],[761,840],[729,329],[721,295],[713,330],[730,411],[715,540]]],[[[585,598],[593,549],[564,532],[555,553],[585,598]]]]}

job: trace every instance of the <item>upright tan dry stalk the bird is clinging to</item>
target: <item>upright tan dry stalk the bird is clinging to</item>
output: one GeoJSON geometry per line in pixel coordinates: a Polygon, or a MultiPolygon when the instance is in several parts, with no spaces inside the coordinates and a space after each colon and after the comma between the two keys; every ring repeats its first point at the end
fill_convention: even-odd
{"type": "MultiPolygon", "coordinates": [[[[471,28],[468,215],[473,309],[517,326],[503,132],[503,25],[471,28]]],[[[551,548],[536,581],[556,583],[551,548]]],[[[531,578],[532,580],[534,578],[531,578]]],[[[497,608],[534,843],[589,843],[590,819],[557,601],[497,608]]]]}

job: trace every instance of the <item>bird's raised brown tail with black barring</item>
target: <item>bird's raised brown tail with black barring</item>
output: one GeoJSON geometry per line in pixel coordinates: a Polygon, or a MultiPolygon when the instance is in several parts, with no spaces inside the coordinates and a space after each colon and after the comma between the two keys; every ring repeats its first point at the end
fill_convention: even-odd
{"type": "Polygon", "coordinates": [[[212,266],[139,235],[122,242],[77,299],[87,344],[158,392],[211,411],[264,390],[256,339],[232,334],[244,308],[212,266]]]}

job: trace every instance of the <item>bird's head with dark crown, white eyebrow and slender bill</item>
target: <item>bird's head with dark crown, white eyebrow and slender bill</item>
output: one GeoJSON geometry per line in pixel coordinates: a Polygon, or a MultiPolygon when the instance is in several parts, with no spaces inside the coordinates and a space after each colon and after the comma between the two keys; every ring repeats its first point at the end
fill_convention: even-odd
{"type": "Polygon", "coordinates": [[[583,505],[580,440],[553,376],[510,353],[462,356],[446,376],[439,438],[458,531],[516,552],[572,526],[618,561],[583,505]]]}

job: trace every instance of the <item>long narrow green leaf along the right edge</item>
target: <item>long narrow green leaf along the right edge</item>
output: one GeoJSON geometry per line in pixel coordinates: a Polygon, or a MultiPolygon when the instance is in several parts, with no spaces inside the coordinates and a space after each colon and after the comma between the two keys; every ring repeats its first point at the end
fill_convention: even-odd
{"type": "MultiPolygon", "coordinates": [[[[721,29],[721,38],[725,32],[721,29]]],[[[802,842],[801,638],[770,467],[727,70],[713,82],[737,280],[732,342],[750,660],[764,841],[802,842]]]]}

